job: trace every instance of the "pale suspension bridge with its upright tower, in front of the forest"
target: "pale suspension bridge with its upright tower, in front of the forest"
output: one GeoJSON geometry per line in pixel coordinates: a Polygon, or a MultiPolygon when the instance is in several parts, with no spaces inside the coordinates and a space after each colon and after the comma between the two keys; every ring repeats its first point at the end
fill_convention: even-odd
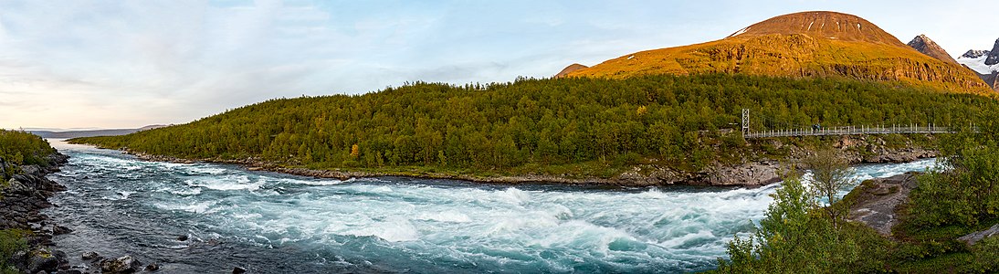
{"type": "Polygon", "coordinates": [[[933,123],[909,125],[862,125],[862,126],[789,126],[784,129],[752,130],[749,128],[749,110],[742,109],[742,138],[770,138],[797,136],[833,136],[861,134],[893,134],[893,133],[953,133],[951,127],[937,126],[933,123]]]}

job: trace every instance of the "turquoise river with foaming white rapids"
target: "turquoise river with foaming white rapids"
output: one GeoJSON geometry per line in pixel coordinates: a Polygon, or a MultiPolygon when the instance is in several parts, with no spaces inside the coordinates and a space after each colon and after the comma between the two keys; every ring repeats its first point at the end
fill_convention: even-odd
{"type": "MultiPolygon", "coordinates": [[[[132,254],[162,273],[648,273],[711,269],[778,185],[602,189],[449,180],[339,181],[139,161],[53,142],[68,191],[47,214],[79,258],[132,254]],[[187,241],[178,236],[188,235],[187,241]]],[[[933,160],[857,167],[858,179],[933,160]]],[[[75,262],[81,264],[82,262],[75,262]]]]}

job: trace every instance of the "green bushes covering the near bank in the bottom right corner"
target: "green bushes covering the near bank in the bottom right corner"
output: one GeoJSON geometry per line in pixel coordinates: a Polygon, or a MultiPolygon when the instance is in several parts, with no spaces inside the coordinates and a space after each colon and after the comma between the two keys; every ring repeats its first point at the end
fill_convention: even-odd
{"type": "Polygon", "coordinates": [[[848,208],[853,193],[823,207],[792,176],[756,233],[729,244],[730,259],[719,260],[717,272],[999,272],[999,237],[959,239],[999,224],[999,123],[945,138],[941,168],[918,177],[890,237],[862,223],[837,227],[842,219],[827,213],[848,208]]]}

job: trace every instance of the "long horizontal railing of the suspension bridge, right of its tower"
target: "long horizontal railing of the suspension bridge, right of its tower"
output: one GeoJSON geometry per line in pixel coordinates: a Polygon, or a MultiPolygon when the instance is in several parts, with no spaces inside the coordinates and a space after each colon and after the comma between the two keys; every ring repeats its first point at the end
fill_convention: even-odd
{"type": "Polygon", "coordinates": [[[820,129],[789,129],[789,130],[768,130],[747,132],[743,137],[768,138],[768,137],[794,137],[794,136],[828,136],[828,135],[859,135],[859,134],[892,134],[892,133],[951,133],[950,127],[940,126],[849,126],[831,127],[820,129]]]}

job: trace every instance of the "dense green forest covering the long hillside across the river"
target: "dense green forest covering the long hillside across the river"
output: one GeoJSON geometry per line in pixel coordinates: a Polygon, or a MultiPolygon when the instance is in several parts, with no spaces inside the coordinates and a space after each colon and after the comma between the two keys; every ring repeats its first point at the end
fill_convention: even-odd
{"type": "Polygon", "coordinates": [[[963,125],[997,104],[981,96],[845,78],[709,74],[519,78],[463,86],[418,82],[363,95],[274,99],[189,124],[72,142],[316,169],[544,173],[566,166],[614,170],[654,160],[695,171],[713,161],[738,160],[751,149],[739,134],[743,108],[754,117],[751,128],[764,130],[963,125]]]}

